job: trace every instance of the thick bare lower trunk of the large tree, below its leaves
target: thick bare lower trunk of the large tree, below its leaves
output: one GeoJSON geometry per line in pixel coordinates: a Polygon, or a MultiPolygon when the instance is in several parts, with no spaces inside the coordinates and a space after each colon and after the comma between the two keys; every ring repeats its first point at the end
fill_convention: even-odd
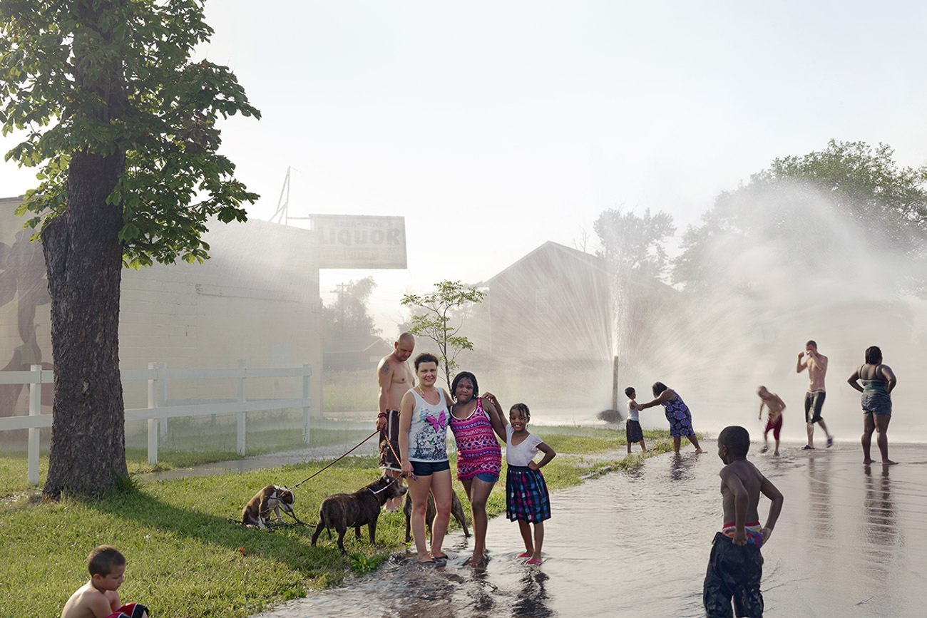
{"type": "Polygon", "coordinates": [[[43,232],[51,295],[55,403],[44,496],[98,496],[127,476],[119,367],[119,207],[106,203],[123,162],[78,154],[68,208],[43,232]]]}

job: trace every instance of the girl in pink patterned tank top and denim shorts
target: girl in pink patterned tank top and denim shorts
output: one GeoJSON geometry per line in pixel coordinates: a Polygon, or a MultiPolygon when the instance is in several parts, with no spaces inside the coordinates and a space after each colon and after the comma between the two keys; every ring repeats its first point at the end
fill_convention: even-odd
{"type": "Polygon", "coordinates": [[[473,557],[470,566],[479,566],[486,552],[486,500],[499,480],[502,448],[496,434],[503,433],[499,411],[485,398],[476,397],[479,387],[471,372],[458,373],[451,383],[451,431],[457,443],[457,478],[470,500],[473,517],[473,557]]]}

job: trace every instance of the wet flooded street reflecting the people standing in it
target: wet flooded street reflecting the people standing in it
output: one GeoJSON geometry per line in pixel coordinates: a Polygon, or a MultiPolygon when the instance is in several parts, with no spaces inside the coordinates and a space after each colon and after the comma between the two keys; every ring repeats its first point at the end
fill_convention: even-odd
{"type": "MultiPolygon", "coordinates": [[[[393,559],[374,574],[291,601],[260,618],[310,616],[702,616],[702,581],[721,524],[714,440],[703,455],[661,455],[552,494],[545,561],[527,567],[517,524],[489,522],[491,560],[463,566],[472,538],[449,536],[451,560],[393,559]]],[[[894,446],[900,465],[864,466],[854,444],[783,446],[751,460],[785,496],[763,548],[768,616],[921,615],[927,573],[927,448],[894,446]]],[[[761,502],[765,517],[768,500],[761,502]]]]}

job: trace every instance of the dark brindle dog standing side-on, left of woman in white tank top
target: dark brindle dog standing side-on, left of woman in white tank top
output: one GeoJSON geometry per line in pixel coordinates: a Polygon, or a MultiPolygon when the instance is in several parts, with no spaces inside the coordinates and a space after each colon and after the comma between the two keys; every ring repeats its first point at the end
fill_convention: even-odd
{"type": "Polygon", "coordinates": [[[376,519],[380,509],[390,498],[399,498],[408,489],[400,485],[398,478],[381,476],[368,486],[361,487],[353,494],[333,494],[322,500],[319,507],[319,523],[312,535],[312,545],[324,528],[335,528],[338,533],[338,549],[345,551],[344,538],[348,528],[354,528],[354,536],[360,540],[361,526],[366,524],[370,532],[370,544],[375,545],[376,519]]]}

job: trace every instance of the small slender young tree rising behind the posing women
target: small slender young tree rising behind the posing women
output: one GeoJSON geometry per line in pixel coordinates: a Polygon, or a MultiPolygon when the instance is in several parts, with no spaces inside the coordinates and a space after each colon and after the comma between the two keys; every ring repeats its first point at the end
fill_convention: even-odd
{"type": "Polygon", "coordinates": [[[457,356],[463,350],[472,350],[473,344],[462,334],[464,320],[460,309],[473,303],[481,303],[486,293],[459,281],[442,281],[431,294],[420,296],[407,294],[400,303],[413,309],[410,333],[424,334],[438,344],[444,379],[451,386],[451,374],[456,372],[457,356]]]}

